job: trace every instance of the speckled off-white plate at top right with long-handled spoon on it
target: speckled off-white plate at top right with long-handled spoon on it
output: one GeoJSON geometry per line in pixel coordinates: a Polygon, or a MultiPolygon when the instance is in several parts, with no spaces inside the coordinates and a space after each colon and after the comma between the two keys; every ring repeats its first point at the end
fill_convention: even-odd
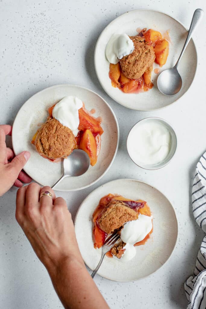
{"type": "MultiPolygon", "coordinates": [[[[191,16],[192,17],[192,16],[191,16]]],[[[134,10],[127,12],[116,19],[114,19],[101,33],[95,47],[95,70],[97,77],[103,89],[107,94],[121,105],[135,109],[138,111],[153,111],[166,107],[174,103],[189,89],[193,78],[195,76],[197,67],[197,52],[195,44],[191,40],[187,46],[186,51],[180,61],[178,70],[183,79],[183,87],[181,91],[175,96],[165,96],[157,88],[158,74],[152,73],[152,82],[154,87],[147,92],[139,94],[126,94],[118,88],[111,86],[109,74],[109,62],[105,57],[105,48],[111,35],[117,31],[127,33],[129,36],[137,34],[138,28],[152,28],[160,31],[162,34],[169,30],[171,44],[169,46],[169,56],[166,64],[160,68],[162,70],[168,69],[176,63],[179,58],[180,52],[183,48],[184,42],[187,37],[187,29],[182,23],[173,17],[166,15],[159,11],[153,10],[134,10]]],[[[154,64],[153,69],[159,68],[154,64]]]]}

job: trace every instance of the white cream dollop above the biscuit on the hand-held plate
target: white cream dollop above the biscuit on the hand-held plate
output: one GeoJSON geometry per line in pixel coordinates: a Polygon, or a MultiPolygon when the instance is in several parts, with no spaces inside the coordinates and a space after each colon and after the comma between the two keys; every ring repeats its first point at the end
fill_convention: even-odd
{"type": "Polygon", "coordinates": [[[79,108],[83,106],[80,99],[75,96],[65,96],[53,108],[52,116],[62,125],[72,130],[74,136],[78,134],[79,126],[79,108]]]}

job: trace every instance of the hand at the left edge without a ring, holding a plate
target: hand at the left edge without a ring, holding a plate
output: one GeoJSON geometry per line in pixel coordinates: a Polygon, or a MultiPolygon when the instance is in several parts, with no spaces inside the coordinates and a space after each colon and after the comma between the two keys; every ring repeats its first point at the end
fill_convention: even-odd
{"type": "Polygon", "coordinates": [[[11,135],[11,125],[0,125],[0,196],[8,191],[12,185],[22,187],[32,179],[22,171],[30,157],[28,151],[15,156],[14,151],[6,147],[6,135],[11,135]]]}

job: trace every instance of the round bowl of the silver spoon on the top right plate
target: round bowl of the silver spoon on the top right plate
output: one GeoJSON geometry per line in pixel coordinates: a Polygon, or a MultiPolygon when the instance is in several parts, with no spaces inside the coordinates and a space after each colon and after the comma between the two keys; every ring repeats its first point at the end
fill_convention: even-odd
{"type": "Polygon", "coordinates": [[[183,81],[176,67],[159,74],[157,86],[164,95],[176,95],[182,88],[183,81]]]}

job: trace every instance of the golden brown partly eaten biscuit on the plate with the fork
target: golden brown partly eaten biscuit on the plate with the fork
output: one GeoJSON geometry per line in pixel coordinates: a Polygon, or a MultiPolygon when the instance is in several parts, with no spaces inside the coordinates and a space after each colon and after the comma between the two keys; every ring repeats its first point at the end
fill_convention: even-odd
{"type": "Polygon", "coordinates": [[[125,222],[136,220],[138,213],[123,201],[111,201],[98,219],[101,230],[107,234],[119,229],[125,222]]]}

